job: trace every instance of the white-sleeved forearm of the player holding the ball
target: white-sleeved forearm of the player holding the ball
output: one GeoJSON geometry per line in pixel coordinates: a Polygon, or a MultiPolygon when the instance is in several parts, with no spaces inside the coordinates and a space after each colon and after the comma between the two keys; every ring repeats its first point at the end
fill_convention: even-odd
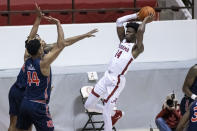
{"type": "Polygon", "coordinates": [[[128,22],[129,20],[133,19],[137,19],[137,13],[118,18],[116,20],[116,25],[117,27],[122,27],[125,22],[128,22]]]}

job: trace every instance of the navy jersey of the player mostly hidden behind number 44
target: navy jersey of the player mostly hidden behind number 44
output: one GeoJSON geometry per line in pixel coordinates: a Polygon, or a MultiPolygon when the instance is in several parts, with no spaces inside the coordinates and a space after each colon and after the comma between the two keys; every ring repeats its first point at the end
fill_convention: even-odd
{"type": "Polygon", "coordinates": [[[25,88],[26,87],[26,83],[27,83],[27,78],[25,75],[25,64],[22,66],[17,79],[16,79],[16,85],[19,88],[25,88]]]}

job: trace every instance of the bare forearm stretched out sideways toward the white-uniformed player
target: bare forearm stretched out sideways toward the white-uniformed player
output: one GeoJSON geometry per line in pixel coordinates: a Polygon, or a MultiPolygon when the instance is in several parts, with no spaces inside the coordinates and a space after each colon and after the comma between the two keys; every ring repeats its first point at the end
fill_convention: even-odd
{"type": "Polygon", "coordinates": [[[64,46],[70,46],[84,38],[87,38],[87,34],[82,34],[82,35],[67,38],[64,40],[64,46]]]}

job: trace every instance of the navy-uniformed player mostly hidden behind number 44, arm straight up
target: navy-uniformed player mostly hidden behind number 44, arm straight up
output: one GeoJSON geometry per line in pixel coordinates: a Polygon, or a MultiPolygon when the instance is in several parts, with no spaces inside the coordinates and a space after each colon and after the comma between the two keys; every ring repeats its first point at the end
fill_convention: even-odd
{"type": "MultiPolygon", "coordinates": [[[[38,31],[38,27],[39,27],[41,17],[42,17],[41,10],[36,3],[35,3],[35,7],[36,7],[37,17],[36,17],[36,20],[34,22],[32,29],[31,29],[31,32],[28,36],[29,39],[35,38],[37,36],[36,33],[38,31]]],[[[49,49],[47,49],[47,50],[49,50],[49,49]]],[[[24,61],[26,61],[26,59],[28,57],[29,57],[29,55],[25,51],[24,61]]],[[[20,104],[21,104],[23,96],[24,96],[26,83],[27,83],[25,75],[24,75],[24,68],[25,68],[25,64],[21,68],[21,70],[17,76],[16,82],[12,85],[12,87],[10,88],[10,91],[9,91],[8,98],[9,98],[10,125],[8,128],[8,131],[16,131],[16,120],[17,120],[17,116],[19,115],[19,110],[20,110],[19,108],[20,108],[20,104]]],[[[31,128],[29,130],[31,130],[31,128]]]]}

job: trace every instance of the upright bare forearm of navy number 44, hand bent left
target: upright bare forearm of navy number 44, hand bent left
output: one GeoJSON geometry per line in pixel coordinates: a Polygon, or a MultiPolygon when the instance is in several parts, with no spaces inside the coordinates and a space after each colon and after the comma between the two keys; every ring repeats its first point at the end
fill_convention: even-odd
{"type": "Polygon", "coordinates": [[[57,45],[59,48],[64,48],[64,31],[62,29],[60,22],[57,23],[57,34],[57,45]]]}

